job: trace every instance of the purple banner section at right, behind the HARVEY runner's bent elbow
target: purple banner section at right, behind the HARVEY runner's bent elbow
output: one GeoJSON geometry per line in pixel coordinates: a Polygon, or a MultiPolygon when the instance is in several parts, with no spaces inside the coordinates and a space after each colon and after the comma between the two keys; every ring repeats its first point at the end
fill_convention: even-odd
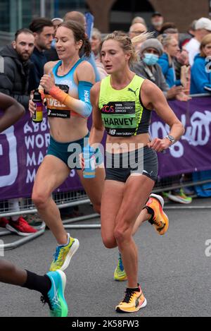
{"type": "MultiPolygon", "coordinates": [[[[211,169],[211,98],[198,97],[188,102],[172,101],[170,107],[185,127],[184,136],[166,150],[158,153],[160,178],[211,169]]],[[[169,133],[153,112],[150,127],[152,138],[163,138],[169,133]]]]}

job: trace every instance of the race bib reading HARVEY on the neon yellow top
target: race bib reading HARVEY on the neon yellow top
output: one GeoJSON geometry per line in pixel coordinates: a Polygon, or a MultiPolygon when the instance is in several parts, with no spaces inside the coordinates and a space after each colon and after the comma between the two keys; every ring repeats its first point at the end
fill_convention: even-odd
{"type": "Polygon", "coordinates": [[[110,136],[134,136],[137,126],[135,102],[109,102],[103,105],[101,115],[110,136]]]}

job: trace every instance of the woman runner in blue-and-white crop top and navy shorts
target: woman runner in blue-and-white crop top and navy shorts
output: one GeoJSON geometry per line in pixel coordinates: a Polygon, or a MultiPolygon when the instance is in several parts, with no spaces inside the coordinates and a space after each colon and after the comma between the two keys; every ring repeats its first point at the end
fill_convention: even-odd
{"type": "MultiPolygon", "coordinates": [[[[90,89],[95,76],[91,64],[79,58],[82,47],[86,56],[89,56],[91,47],[84,28],[73,21],[62,23],[56,31],[56,50],[60,61],[48,62],[40,81],[46,97],[51,139],[47,155],[37,171],[32,200],[58,243],[51,271],[65,270],[79,246],[77,239],[65,231],[51,193],[68,178],[71,169],[77,169],[94,209],[100,212],[102,183],[105,179],[105,170],[102,168],[96,169],[94,179],[84,179],[79,160],[76,160],[77,164],[75,160],[71,164],[69,159],[75,152],[68,152],[69,145],[77,144],[82,149],[86,143],[84,138],[87,138],[87,142],[89,138],[87,119],[91,114],[90,89]]],[[[32,100],[29,108],[33,114],[35,108],[32,100]]]]}

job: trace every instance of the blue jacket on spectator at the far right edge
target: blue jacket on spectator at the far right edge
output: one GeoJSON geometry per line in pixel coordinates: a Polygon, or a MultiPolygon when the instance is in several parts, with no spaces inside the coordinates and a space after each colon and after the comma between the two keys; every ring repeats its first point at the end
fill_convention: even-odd
{"type": "Polygon", "coordinates": [[[197,54],[191,68],[191,94],[206,93],[211,90],[211,72],[206,72],[210,64],[204,56],[197,54]]]}

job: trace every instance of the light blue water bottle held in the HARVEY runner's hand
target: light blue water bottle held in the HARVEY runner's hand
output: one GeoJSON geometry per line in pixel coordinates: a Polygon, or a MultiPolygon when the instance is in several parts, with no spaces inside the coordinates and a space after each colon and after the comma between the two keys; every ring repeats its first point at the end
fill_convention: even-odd
{"type": "Polygon", "coordinates": [[[84,157],[84,178],[94,178],[95,177],[95,149],[91,148],[91,146],[87,145],[83,149],[83,157],[84,157]]]}

